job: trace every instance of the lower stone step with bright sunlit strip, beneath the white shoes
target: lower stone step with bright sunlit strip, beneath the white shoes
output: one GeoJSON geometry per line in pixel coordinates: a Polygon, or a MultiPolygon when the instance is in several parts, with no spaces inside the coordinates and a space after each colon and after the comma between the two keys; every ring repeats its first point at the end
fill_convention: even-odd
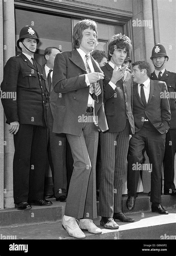
{"type": "MultiPolygon", "coordinates": [[[[108,230],[100,226],[100,219],[98,217],[94,223],[102,229],[102,234],[91,234],[84,231],[86,238],[89,239],[111,239],[111,240],[173,240],[176,239],[176,208],[170,209],[168,215],[162,215],[152,212],[133,213],[131,216],[135,219],[133,223],[124,223],[116,221],[119,225],[117,230],[108,230]]],[[[13,228],[1,228],[1,239],[57,239],[57,240],[73,240],[76,238],[70,237],[62,228],[61,221],[57,223],[39,224],[39,225],[25,225],[13,228]]],[[[157,241],[158,242],[158,241],[157,241]]],[[[150,242],[148,242],[149,244],[150,242]]],[[[159,243],[159,242],[158,242],[159,243]]]]}

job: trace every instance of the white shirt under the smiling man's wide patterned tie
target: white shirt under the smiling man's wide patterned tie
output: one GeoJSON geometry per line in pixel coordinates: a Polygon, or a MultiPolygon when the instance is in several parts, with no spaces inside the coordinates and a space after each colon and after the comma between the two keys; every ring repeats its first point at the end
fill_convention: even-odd
{"type": "MultiPolygon", "coordinates": [[[[86,54],[86,53],[85,53],[83,50],[81,50],[80,48],[76,48],[76,50],[77,50],[78,53],[81,55],[81,58],[82,58],[82,60],[84,61],[85,67],[86,67],[86,57],[85,57],[85,56],[86,56],[86,55],[89,56],[88,64],[89,64],[90,70],[91,70],[91,72],[95,72],[94,67],[93,67],[93,64],[92,64],[92,61],[91,61],[90,53],[86,54]]],[[[85,74],[85,82],[87,83],[87,86],[90,85],[87,74],[85,74]]],[[[94,103],[95,103],[94,99],[92,99],[91,95],[89,94],[87,106],[88,106],[88,107],[94,107],[94,103]]]]}

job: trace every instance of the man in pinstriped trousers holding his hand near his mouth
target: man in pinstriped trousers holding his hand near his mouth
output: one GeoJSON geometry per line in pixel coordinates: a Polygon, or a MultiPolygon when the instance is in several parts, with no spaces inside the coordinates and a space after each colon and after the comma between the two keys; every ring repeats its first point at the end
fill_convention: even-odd
{"type": "Polygon", "coordinates": [[[102,175],[100,185],[100,224],[117,229],[115,219],[133,222],[121,209],[123,179],[127,170],[129,135],[134,133],[132,114],[132,77],[127,66],[121,67],[131,51],[131,40],[114,35],[108,46],[110,60],[104,72],[103,91],[108,132],[101,133],[102,175]]]}

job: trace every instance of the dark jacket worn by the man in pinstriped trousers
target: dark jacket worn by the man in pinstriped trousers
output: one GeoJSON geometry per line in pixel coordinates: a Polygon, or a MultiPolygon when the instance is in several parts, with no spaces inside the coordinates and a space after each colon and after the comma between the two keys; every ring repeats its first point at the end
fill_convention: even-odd
{"type": "Polygon", "coordinates": [[[122,132],[126,127],[127,117],[130,123],[130,133],[134,134],[133,118],[133,82],[127,72],[126,79],[117,81],[115,91],[108,84],[113,75],[113,68],[107,63],[101,67],[104,72],[103,90],[105,114],[108,122],[108,132],[122,132]]]}

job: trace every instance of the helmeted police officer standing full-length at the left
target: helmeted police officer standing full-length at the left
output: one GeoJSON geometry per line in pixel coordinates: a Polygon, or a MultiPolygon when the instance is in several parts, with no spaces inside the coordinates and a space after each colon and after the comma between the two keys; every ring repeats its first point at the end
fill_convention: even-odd
{"type": "Polygon", "coordinates": [[[33,59],[39,39],[25,26],[17,46],[20,56],[11,57],[4,67],[1,89],[14,92],[16,100],[2,98],[9,132],[14,138],[13,197],[19,210],[31,205],[48,206],[43,199],[47,149],[46,96],[40,65],[33,59]]]}

